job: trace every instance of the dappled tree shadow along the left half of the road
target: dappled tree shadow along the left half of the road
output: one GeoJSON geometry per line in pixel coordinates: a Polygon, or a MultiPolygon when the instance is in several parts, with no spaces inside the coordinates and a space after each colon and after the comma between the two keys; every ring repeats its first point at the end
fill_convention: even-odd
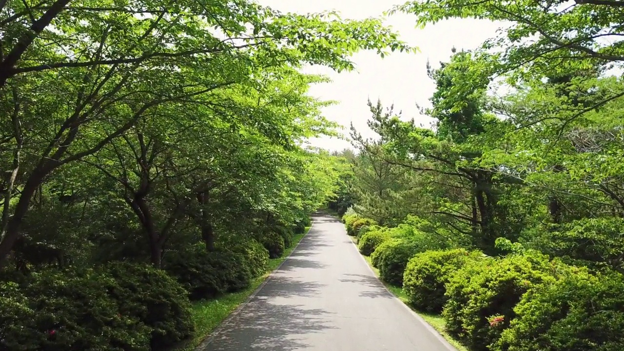
{"type": "MultiPolygon", "coordinates": [[[[331,222],[315,217],[314,225],[331,222]]],[[[202,351],[291,351],[310,347],[310,334],[335,329],[334,313],[305,308],[302,300],[323,297],[326,285],[300,279],[302,269],[328,268],[318,258],[319,247],[331,246],[318,232],[310,232],[297,249],[271,276],[258,294],[233,315],[202,345],[202,351]]]]}

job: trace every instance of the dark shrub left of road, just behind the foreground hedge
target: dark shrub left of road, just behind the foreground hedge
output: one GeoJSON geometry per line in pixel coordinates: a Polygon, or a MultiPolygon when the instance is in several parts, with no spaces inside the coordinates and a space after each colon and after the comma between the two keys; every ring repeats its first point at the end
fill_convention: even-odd
{"type": "Polygon", "coordinates": [[[165,269],[187,289],[192,300],[244,289],[253,279],[245,255],[226,250],[206,252],[199,246],[172,255],[165,269]]]}

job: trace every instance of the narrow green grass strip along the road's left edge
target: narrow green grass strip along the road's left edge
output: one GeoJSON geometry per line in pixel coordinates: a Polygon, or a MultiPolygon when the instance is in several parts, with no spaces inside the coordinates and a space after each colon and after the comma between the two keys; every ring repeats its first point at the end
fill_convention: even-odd
{"type": "Polygon", "coordinates": [[[177,351],[192,351],[201,344],[210,333],[218,327],[218,325],[230,315],[238,305],[245,302],[249,296],[265,281],[265,279],[275,270],[277,267],[286,260],[286,258],[293,252],[295,246],[300,242],[303,237],[308,234],[310,227],[306,227],[304,234],[296,234],[293,238],[293,246],[290,249],[286,249],[282,257],[279,259],[269,260],[268,269],[266,274],[256,278],[250,287],[240,292],[233,294],[225,294],[222,297],[218,297],[213,300],[203,300],[193,303],[192,318],[193,324],[195,324],[195,337],[187,340],[185,344],[178,347],[177,351]]]}

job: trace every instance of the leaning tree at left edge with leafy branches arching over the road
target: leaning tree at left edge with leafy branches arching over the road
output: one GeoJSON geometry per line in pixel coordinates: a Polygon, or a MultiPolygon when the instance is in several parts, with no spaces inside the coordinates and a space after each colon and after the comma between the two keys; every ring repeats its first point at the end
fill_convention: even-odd
{"type": "MultiPolygon", "coordinates": [[[[271,67],[306,62],[350,69],[348,57],[359,49],[409,50],[378,19],[324,20],[327,14],[281,14],[246,1],[236,7],[193,0],[1,5],[0,89],[11,121],[3,125],[11,128],[0,140],[12,166],[0,264],[47,177],[140,121],[159,118],[162,109],[206,104],[230,86],[257,91],[266,74],[280,74],[271,67]],[[32,150],[27,162],[23,149],[32,150]]],[[[270,121],[258,126],[270,132],[270,121]]]]}

